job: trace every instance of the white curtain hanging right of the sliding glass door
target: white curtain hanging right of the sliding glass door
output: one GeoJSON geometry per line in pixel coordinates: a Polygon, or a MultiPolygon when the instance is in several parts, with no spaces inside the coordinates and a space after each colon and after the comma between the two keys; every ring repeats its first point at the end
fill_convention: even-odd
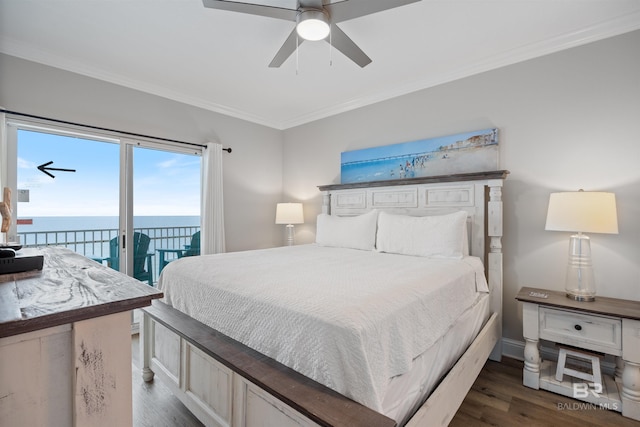
{"type": "Polygon", "coordinates": [[[222,145],[209,142],[202,151],[200,251],[224,252],[224,204],[222,198],[222,145]]]}

